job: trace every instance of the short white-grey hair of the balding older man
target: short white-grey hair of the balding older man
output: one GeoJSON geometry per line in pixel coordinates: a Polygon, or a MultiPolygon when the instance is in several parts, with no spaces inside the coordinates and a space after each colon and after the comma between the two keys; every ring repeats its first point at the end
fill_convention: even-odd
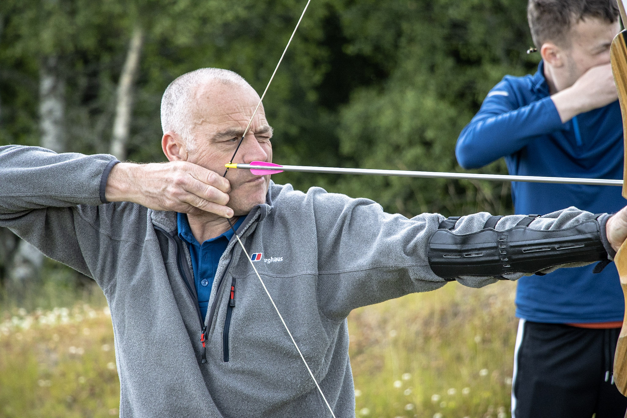
{"type": "Polygon", "coordinates": [[[199,68],[185,73],[167,86],[161,98],[161,128],[163,133],[175,132],[181,135],[188,151],[194,149],[192,138],[193,104],[196,88],[211,81],[218,80],[223,84],[248,86],[248,82],[238,73],[221,68],[199,68]]]}

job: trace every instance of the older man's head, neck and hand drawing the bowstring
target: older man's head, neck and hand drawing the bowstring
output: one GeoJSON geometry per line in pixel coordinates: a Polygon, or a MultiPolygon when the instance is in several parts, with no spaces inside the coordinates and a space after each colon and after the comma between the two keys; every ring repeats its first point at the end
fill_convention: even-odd
{"type": "MultiPolygon", "coordinates": [[[[193,73],[185,76],[190,78],[189,74],[193,73]]],[[[161,144],[170,162],[115,165],[106,196],[108,201],[185,212],[194,236],[203,242],[229,228],[225,218],[245,215],[265,202],[270,175],[231,170],[226,179],[222,177],[259,96],[230,73],[226,77],[201,73],[199,78],[177,79],[164,94],[161,144]]],[[[233,162],[271,162],[271,136],[261,105],[233,162]]]]}

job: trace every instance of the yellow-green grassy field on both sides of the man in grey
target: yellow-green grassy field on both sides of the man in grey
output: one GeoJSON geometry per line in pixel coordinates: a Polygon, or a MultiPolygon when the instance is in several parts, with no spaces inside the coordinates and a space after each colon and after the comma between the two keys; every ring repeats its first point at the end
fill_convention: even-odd
{"type": "MultiPolygon", "coordinates": [[[[452,283],[351,313],[357,417],[509,417],[514,292],[452,283]]],[[[0,417],[110,417],[118,404],[103,303],[0,318],[0,417]]]]}

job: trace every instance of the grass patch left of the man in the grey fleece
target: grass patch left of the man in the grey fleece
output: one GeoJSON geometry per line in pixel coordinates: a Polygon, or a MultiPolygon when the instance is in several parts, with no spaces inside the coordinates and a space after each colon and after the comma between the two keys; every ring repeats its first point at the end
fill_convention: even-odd
{"type": "Polygon", "coordinates": [[[118,415],[108,308],[18,310],[0,325],[0,416],[118,415]]]}

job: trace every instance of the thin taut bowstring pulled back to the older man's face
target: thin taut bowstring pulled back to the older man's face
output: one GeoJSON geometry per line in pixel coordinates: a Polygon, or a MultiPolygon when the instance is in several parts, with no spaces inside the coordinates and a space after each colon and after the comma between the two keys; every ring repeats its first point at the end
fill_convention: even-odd
{"type": "MultiPolygon", "coordinates": [[[[309,7],[309,3],[311,3],[311,0],[307,0],[307,4],[305,4],[305,8],[303,9],[303,13],[300,14],[300,18],[298,19],[298,22],[296,23],[296,26],[295,26],[294,30],[292,31],[292,36],[290,36],[290,39],[287,41],[287,45],[285,45],[285,50],[283,50],[281,58],[278,60],[277,66],[275,67],[275,70],[273,71],[272,75],[270,76],[270,81],[268,81],[268,84],[266,85],[265,90],[263,90],[263,94],[261,95],[261,98],[259,99],[259,102],[257,103],[257,106],[255,107],[255,111],[253,112],[253,115],[251,116],[250,120],[248,121],[248,125],[246,125],[246,129],[244,130],[243,135],[241,135],[240,142],[238,143],[238,145],[237,145],[237,147],[235,149],[235,152],[233,153],[233,157],[231,157],[231,160],[229,161],[229,164],[233,164],[233,160],[235,159],[235,155],[237,155],[237,152],[240,149],[240,145],[241,145],[242,141],[244,140],[244,137],[246,137],[246,133],[248,133],[248,129],[250,129],[250,126],[253,123],[253,119],[255,118],[257,110],[259,110],[259,107],[261,106],[261,102],[263,101],[263,98],[265,97],[266,93],[268,92],[268,88],[270,88],[270,84],[272,83],[272,80],[274,79],[275,74],[277,74],[278,67],[281,65],[281,61],[283,61],[283,57],[285,56],[285,53],[287,53],[287,48],[290,46],[290,43],[292,43],[292,39],[294,38],[294,35],[296,34],[296,30],[298,29],[298,26],[300,25],[300,21],[302,21],[303,16],[305,16],[305,12],[307,11],[307,8],[309,7]]],[[[226,167],[226,171],[224,171],[223,177],[226,177],[226,173],[228,173],[228,172],[229,172],[229,167],[226,167]]],[[[333,409],[332,409],[331,405],[329,405],[329,401],[327,401],[327,397],[325,397],[324,393],[322,392],[322,389],[320,389],[320,385],[318,384],[318,381],[315,379],[314,372],[312,372],[311,368],[309,367],[309,365],[307,363],[307,360],[305,360],[305,356],[303,356],[303,353],[300,351],[300,348],[298,347],[298,344],[296,343],[296,340],[294,340],[294,337],[292,336],[292,332],[290,332],[290,328],[287,327],[287,323],[285,323],[285,320],[283,320],[283,315],[281,315],[280,311],[278,310],[277,304],[275,303],[275,301],[273,300],[272,296],[270,295],[270,291],[268,291],[268,288],[266,288],[266,284],[263,283],[263,280],[261,279],[261,276],[260,276],[259,272],[255,268],[255,264],[253,264],[253,261],[250,259],[250,256],[248,255],[248,251],[246,251],[246,247],[241,242],[240,236],[238,236],[237,231],[235,231],[235,228],[234,228],[233,224],[231,223],[231,219],[227,218],[226,221],[229,222],[229,226],[233,230],[233,234],[234,234],[235,238],[237,239],[238,243],[240,243],[241,249],[244,251],[244,254],[246,254],[246,258],[248,259],[248,262],[250,263],[250,265],[252,266],[253,270],[255,271],[255,274],[257,275],[257,278],[259,279],[259,281],[261,283],[261,286],[263,286],[263,290],[265,290],[266,295],[268,295],[268,299],[270,299],[270,303],[272,303],[272,306],[275,308],[275,311],[277,311],[277,315],[278,315],[279,319],[281,320],[281,322],[283,323],[283,327],[285,327],[285,331],[287,331],[287,335],[290,336],[290,339],[292,340],[292,343],[293,343],[294,347],[296,348],[296,351],[298,352],[298,355],[300,355],[300,359],[303,360],[303,363],[305,364],[305,367],[307,368],[307,372],[309,372],[310,377],[312,378],[312,380],[314,380],[315,387],[318,389],[318,392],[320,393],[320,396],[322,396],[322,399],[324,400],[325,405],[327,405],[327,408],[329,409],[329,412],[331,413],[331,416],[333,418],[335,418],[335,414],[333,412],[333,409]]]]}

